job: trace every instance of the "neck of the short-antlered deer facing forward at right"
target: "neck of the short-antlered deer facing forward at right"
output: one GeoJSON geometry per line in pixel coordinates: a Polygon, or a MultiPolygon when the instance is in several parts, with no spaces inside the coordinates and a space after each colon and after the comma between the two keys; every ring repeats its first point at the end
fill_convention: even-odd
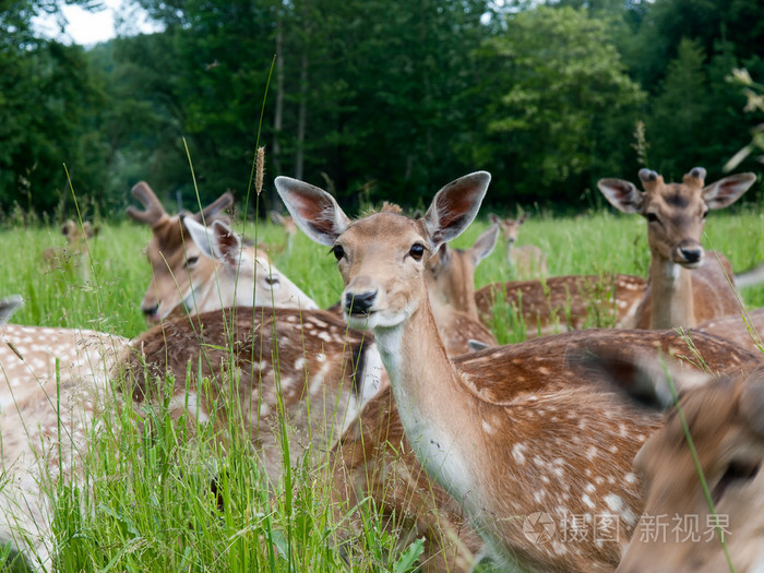
{"type": "Polygon", "coordinates": [[[650,329],[695,325],[691,270],[653,253],[649,284],[650,329]]]}

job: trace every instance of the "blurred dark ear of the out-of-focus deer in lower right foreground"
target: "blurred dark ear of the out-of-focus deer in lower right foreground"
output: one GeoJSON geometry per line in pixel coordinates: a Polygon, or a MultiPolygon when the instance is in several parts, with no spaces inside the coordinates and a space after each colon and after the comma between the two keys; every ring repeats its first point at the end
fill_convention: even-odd
{"type": "Polygon", "coordinates": [[[708,374],[682,368],[672,359],[645,353],[582,349],[566,360],[572,368],[585,370],[588,380],[625,395],[643,408],[658,411],[675,405],[671,384],[681,394],[713,380],[708,374]]]}

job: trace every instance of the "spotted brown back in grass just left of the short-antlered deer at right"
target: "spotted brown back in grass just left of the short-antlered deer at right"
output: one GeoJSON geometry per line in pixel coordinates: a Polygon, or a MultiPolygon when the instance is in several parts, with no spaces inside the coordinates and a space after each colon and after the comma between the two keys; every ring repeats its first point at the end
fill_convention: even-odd
{"type": "Polygon", "coordinates": [[[592,326],[630,326],[646,289],[647,282],[633,275],[563,275],[486,285],[475,293],[475,302],[485,324],[491,324],[504,307],[522,317],[526,337],[535,337],[592,326]]]}

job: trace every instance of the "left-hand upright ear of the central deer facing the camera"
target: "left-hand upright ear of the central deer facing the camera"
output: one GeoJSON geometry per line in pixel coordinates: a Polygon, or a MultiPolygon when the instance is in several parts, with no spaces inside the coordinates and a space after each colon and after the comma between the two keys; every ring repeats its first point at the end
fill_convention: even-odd
{"type": "Polygon", "coordinates": [[[333,246],[350,226],[350,219],[323,189],[290,177],[276,177],[276,191],[295,224],[319,244],[333,246]]]}

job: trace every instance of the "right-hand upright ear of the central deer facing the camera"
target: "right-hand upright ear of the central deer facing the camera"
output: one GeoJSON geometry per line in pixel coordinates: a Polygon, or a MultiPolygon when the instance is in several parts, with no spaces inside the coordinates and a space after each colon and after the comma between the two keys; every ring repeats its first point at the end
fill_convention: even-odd
{"type": "Polygon", "coordinates": [[[432,248],[458,237],[475,219],[491,175],[487,171],[459,177],[438,191],[421,219],[430,235],[432,248]]]}

